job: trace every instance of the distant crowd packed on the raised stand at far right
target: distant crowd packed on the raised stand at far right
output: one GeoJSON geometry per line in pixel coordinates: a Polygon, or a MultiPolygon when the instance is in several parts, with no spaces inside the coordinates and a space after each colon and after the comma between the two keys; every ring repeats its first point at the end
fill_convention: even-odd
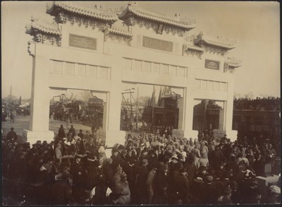
{"type": "Polygon", "coordinates": [[[234,110],[265,110],[280,111],[281,99],[276,97],[267,97],[256,99],[240,98],[234,99],[234,110]]]}

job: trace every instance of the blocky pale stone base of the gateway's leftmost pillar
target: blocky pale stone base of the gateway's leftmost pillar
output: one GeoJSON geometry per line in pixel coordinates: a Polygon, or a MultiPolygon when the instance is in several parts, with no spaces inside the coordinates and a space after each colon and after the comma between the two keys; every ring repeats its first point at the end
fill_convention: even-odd
{"type": "Polygon", "coordinates": [[[41,142],[47,141],[47,143],[50,143],[54,141],[54,132],[34,132],[30,130],[23,130],[23,140],[25,142],[30,142],[30,144],[35,144],[39,140],[41,142]]]}

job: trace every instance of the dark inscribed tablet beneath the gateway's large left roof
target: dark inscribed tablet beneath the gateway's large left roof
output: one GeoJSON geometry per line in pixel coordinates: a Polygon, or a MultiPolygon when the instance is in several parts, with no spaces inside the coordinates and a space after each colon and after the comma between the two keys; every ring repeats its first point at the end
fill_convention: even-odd
{"type": "Polygon", "coordinates": [[[70,34],[70,46],[96,50],[96,39],[70,34]]]}

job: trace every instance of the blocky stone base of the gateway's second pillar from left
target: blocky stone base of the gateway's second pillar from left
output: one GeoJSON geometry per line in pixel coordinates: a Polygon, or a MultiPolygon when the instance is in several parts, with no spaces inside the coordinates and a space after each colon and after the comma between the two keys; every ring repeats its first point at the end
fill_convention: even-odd
{"type": "Polygon", "coordinates": [[[114,144],[123,144],[125,142],[125,131],[105,131],[97,130],[97,139],[102,139],[106,146],[113,147],[114,144]]]}

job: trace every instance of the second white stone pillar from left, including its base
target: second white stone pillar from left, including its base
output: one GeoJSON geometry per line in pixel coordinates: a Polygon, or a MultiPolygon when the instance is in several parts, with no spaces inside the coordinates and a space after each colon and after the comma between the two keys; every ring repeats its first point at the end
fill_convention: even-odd
{"type": "Polygon", "coordinates": [[[112,56],[111,91],[107,92],[106,95],[103,129],[97,131],[97,138],[104,139],[108,147],[112,147],[114,144],[124,144],[125,142],[125,132],[120,130],[122,63],[123,59],[121,57],[112,56]]]}

